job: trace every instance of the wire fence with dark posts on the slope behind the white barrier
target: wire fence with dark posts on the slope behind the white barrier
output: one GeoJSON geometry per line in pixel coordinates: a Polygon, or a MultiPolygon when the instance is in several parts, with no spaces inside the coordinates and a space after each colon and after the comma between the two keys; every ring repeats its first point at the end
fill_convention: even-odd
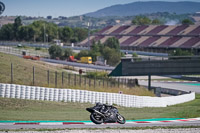
{"type": "Polygon", "coordinates": [[[52,88],[74,88],[85,90],[100,90],[116,88],[133,88],[138,85],[137,79],[126,78],[109,78],[109,77],[93,77],[87,75],[72,74],[64,71],[42,70],[33,66],[20,72],[20,66],[10,65],[10,81],[11,84],[23,84],[31,86],[42,86],[52,88]]]}

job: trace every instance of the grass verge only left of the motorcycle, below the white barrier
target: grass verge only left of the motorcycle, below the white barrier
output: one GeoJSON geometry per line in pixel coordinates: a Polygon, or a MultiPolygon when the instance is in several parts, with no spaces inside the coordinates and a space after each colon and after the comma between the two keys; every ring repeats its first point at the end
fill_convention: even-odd
{"type": "Polygon", "coordinates": [[[87,120],[91,104],[0,98],[0,120],[87,120]]]}

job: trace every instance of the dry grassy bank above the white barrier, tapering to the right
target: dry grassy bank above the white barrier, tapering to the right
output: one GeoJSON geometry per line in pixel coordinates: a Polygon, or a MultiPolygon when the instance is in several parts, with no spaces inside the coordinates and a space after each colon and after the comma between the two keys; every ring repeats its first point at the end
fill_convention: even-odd
{"type": "Polygon", "coordinates": [[[33,66],[35,67],[35,86],[50,87],[55,88],[55,71],[57,71],[57,88],[70,88],[70,89],[81,89],[99,92],[113,92],[118,93],[122,91],[124,94],[134,94],[143,96],[154,96],[153,92],[148,91],[143,87],[131,87],[121,84],[119,87],[117,84],[111,85],[107,79],[104,81],[96,80],[94,83],[94,78],[90,79],[91,85],[89,86],[89,79],[86,80],[82,78],[81,85],[79,84],[79,75],[71,74],[68,77],[68,73],[65,71],[64,65],[50,65],[41,61],[27,60],[19,58],[9,54],[0,53],[0,83],[11,83],[11,63],[13,64],[13,83],[20,85],[33,85],[33,66]],[[47,70],[50,71],[50,83],[47,82],[47,70]],[[62,72],[64,72],[64,84],[62,85],[62,72]],[[68,82],[70,79],[70,83],[68,82]],[[75,80],[76,79],[76,80],[75,80]],[[95,87],[94,87],[95,84],[95,87]]]}

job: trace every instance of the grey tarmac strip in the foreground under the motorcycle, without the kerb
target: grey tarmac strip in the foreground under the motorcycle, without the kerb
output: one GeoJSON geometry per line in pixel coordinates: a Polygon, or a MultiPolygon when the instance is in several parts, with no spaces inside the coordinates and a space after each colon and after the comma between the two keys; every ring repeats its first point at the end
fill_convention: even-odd
{"type": "Polygon", "coordinates": [[[0,129],[106,129],[106,128],[134,128],[134,127],[182,127],[198,126],[200,121],[190,122],[163,122],[163,123],[126,123],[126,124],[102,124],[102,125],[0,125],[0,129]]]}

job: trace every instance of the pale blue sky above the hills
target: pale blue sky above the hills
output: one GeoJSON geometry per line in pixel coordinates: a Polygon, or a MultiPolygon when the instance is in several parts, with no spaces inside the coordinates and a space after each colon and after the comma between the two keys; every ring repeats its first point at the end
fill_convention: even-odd
{"type": "MultiPolygon", "coordinates": [[[[0,0],[6,6],[3,16],[77,16],[116,4],[150,0],[0,0]]],[[[186,1],[186,0],[151,0],[186,1]]],[[[200,2],[200,0],[188,0],[200,2]]]]}

